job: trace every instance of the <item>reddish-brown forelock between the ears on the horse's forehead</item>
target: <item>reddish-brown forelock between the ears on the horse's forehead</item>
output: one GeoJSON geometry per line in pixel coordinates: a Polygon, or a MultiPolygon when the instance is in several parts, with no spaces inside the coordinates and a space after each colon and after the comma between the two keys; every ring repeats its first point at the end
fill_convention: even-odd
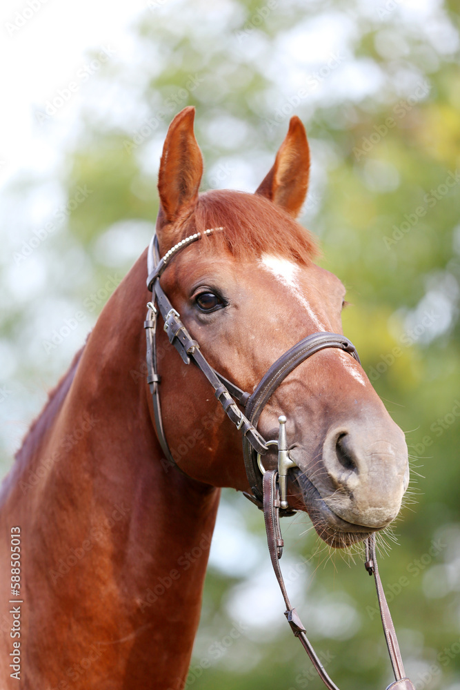
{"type": "Polygon", "coordinates": [[[309,231],[261,195],[234,190],[200,195],[183,237],[220,227],[223,232],[213,233],[212,242],[200,242],[203,251],[226,250],[241,260],[269,254],[303,265],[319,254],[309,231]]]}

